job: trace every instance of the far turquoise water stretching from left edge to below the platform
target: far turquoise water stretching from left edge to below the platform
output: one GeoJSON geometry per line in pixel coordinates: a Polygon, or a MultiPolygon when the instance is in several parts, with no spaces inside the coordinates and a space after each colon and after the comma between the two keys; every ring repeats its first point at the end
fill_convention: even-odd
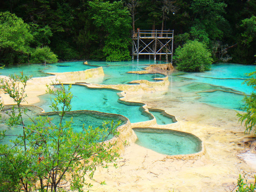
{"type": "MultiPolygon", "coordinates": [[[[159,62],[161,63],[161,62],[159,62]]],[[[144,70],[149,64],[155,64],[154,61],[141,60],[139,62],[96,62],[88,61],[85,65],[83,61],[60,62],[54,64],[20,64],[0,69],[0,75],[9,76],[10,74],[19,74],[21,71],[27,76],[44,77],[54,72],[74,72],[102,66],[104,70],[103,82],[91,80],[91,83],[98,84],[128,84],[133,80],[157,81],[154,78],[164,77],[163,74],[135,74],[127,73],[129,71],[144,70]],[[49,73],[49,74],[48,74],[49,73]]],[[[88,80],[90,82],[90,80],[88,80]]]]}

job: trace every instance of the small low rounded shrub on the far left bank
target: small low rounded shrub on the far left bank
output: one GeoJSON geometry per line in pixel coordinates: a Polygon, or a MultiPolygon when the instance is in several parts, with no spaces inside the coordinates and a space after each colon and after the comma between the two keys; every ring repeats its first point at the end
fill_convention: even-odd
{"type": "Polygon", "coordinates": [[[48,46],[37,47],[31,54],[32,63],[56,63],[58,62],[56,54],[54,54],[48,46]]]}

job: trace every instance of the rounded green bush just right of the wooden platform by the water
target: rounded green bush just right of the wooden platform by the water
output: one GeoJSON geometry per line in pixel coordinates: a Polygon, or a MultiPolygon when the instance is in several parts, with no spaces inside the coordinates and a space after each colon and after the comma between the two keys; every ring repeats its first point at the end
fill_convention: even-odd
{"type": "Polygon", "coordinates": [[[197,40],[187,42],[175,51],[174,60],[178,70],[188,72],[202,72],[210,70],[213,59],[206,45],[197,40]]]}

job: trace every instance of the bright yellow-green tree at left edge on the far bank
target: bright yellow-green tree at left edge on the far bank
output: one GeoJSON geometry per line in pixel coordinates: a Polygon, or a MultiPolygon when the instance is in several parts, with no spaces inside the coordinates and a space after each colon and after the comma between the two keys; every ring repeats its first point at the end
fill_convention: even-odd
{"type": "Polygon", "coordinates": [[[28,24],[10,12],[0,12],[0,63],[13,64],[29,55],[33,36],[28,24]]]}

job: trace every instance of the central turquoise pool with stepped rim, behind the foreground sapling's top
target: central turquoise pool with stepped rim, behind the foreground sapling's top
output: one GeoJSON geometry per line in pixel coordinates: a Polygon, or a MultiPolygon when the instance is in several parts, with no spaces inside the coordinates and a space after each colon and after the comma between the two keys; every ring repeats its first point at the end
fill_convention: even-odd
{"type": "MultiPolygon", "coordinates": [[[[130,122],[141,122],[150,120],[140,111],[140,106],[122,104],[118,102],[119,96],[115,90],[89,89],[86,86],[72,85],[73,94],[72,110],[94,110],[126,116],[130,122]]],[[[36,104],[46,112],[50,112],[50,97],[45,94],[40,96],[42,102],[36,104]]]]}

